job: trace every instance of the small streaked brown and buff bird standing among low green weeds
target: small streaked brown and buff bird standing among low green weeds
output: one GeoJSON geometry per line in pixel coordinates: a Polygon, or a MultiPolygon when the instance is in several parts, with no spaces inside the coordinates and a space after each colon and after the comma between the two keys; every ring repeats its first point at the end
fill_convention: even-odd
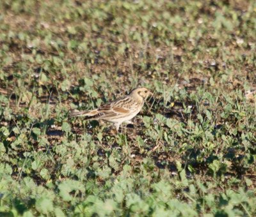
{"type": "Polygon", "coordinates": [[[138,87],[133,89],[128,95],[110,101],[99,108],[89,111],[71,112],[69,117],[85,116],[86,120],[104,120],[113,123],[116,131],[118,131],[120,124],[132,124],[130,121],[135,117],[144,105],[148,96],[153,93],[145,87],[138,87]]]}

